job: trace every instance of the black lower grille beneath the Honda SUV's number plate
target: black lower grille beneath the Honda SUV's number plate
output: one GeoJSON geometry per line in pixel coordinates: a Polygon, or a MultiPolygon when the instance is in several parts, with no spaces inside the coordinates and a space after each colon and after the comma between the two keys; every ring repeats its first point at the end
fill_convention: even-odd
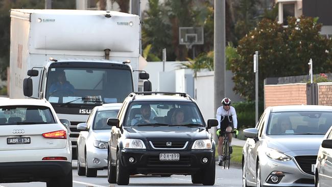
{"type": "Polygon", "coordinates": [[[149,156],[148,165],[150,166],[191,166],[191,157],[186,155],[180,155],[178,161],[160,161],[159,156],[149,156]]]}

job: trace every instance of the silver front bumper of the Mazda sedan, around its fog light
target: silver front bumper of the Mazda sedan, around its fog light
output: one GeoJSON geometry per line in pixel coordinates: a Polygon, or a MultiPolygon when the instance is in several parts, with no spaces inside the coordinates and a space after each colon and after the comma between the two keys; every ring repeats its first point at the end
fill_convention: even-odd
{"type": "Polygon", "coordinates": [[[289,161],[279,161],[261,155],[259,162],[262,186],[315,186],[314,175],[302,171],[294,157],[289,161]],[[277,183],[269,180],[272,172],[283,173],[283,176],[278,176],[281,179],[277,183]]]}

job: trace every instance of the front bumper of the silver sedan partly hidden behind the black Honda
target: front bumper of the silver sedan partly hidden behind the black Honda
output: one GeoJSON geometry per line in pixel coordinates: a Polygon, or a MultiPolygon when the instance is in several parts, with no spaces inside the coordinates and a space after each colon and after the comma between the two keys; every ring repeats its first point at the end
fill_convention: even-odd
{"type": "Polygon", "coordinates": [[[98,149],[91,147],[86,151],[86,157],[89,168],[106,168],[107,167],[107,149],[98,149]],[[99,162],[93,162],[94,159],[98,159],[99,162]]]}

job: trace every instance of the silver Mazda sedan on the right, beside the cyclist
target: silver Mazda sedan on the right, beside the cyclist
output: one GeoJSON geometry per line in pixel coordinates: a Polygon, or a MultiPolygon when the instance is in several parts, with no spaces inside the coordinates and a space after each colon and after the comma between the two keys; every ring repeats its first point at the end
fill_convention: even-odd
{"type": "Polygon", "coordinates": [[[244,130],[243,186],[314,186],[319,146],[332,124],[330,106],[268,107],[244,130]]]}

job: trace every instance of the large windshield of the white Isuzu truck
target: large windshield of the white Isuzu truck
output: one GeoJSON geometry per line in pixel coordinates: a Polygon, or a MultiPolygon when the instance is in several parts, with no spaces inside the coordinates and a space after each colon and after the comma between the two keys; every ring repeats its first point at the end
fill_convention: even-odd
{"type": "Polygon", "coordinates": [[[52,67],[45,98],[51,103],[122,103],[132,91],[128,69],[52,67]]]}

